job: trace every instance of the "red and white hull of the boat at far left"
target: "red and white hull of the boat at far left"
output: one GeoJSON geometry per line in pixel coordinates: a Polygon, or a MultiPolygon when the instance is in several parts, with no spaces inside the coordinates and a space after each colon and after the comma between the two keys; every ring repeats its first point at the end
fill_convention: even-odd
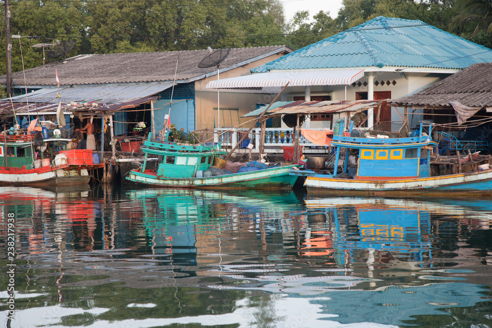
{"type": "Polygon", "coordinates": [[[50,168],[32,170],[0,171],[0,185],[80,185],[88,184],[92,176],[87,169],[70,168],[69,165],[60,165],[50,168]]]}

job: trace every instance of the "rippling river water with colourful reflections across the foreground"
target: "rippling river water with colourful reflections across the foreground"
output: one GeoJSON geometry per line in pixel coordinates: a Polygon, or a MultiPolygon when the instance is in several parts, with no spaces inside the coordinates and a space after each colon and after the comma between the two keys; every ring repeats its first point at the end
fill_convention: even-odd
{"type": "Polygon", "coordinates": [[[488,199],[2,187],[0,208],[7,327],[492,327],[488,199]]]}

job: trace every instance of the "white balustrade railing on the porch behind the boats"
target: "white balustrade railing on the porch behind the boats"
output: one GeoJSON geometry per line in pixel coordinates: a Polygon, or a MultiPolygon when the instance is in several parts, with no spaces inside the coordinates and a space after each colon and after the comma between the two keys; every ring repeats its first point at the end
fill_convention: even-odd
{"type": "MultiPolygon", "coordinates": [[[[281,147],[292,147],[295,135],[293,135],[291,128],[281,128],[273,127],[266,128],[265,130],[265,148],[281,148],[281,147]]],[[[324,128],[311,128],[311,130],[324,130],[324,128]]],[[[238,142],[241,140],[243,135],[247,132],[247,129],[214,129],[214,142],[219,142],[222,147],[232,149],[236,147],[238,142]]],[[[259,151],[259,142],[261,128],[255,128],[251,130],[245,139],[249,139],[251,143],[254,144],[255,150],[259,151]]],[[[300,133],[300,131],[299,131],[300,133]]],[[[244,146],[247,145],[245,141],[244,146]]],[[[316,146],[309,140],[305,139],[304,136],[300,135],[300,145],[301,146],[316,146]]],[[[244,147],[242,147],[244,148],[244,147]]],[[[271,151],[269,151],[271,152],[271,151]]]]}

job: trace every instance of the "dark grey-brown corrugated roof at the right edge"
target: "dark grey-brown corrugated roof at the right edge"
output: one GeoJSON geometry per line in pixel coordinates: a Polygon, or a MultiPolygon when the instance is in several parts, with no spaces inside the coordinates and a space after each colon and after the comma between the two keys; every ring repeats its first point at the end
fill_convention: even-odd
{"type": "Polygon", "coordinates": [[[472,107],[492,106],[492,63],[473,64],[414,95],[391,99],[402,106],[445,106],[458,101],[472,107]]]}

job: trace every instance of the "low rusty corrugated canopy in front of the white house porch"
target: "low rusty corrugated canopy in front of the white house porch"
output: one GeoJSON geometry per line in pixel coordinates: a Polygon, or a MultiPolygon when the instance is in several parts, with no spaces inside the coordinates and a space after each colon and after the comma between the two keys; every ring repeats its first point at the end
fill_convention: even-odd
{"type": "MultiPolygon", "coordinates": [[[[343,100],[343,101],[312,101],[301,102],[292,106],[293,102],[276,102],[272,105],[275,109],[270,109],[268,116],[278,116],[285,114],[337,114],[344,112],[362,112],[369,108],[377,107],[381,101],[377,100],[343,100]],[[282,103],[277,105],[277,103],[282,103]]],[[[243,117],[259,116],[263,111],[257,109],[243,117]]],[[[264,110],[264,109],[263,109],[264,110]]]]}

